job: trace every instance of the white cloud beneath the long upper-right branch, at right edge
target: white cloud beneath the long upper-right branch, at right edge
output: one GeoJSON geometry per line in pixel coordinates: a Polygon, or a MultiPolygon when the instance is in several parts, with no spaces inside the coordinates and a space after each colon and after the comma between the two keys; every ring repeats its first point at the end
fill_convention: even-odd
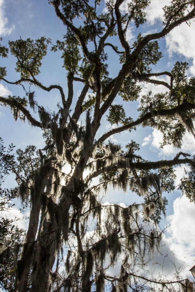
{"type": "Polygon", "coordinates": [[[179,53],[186,58],[191,58],[193,65],[190,68],[191,74],[195,74],[195,22],[192,20],[190,27],[183,23],[182,25],[173,29],[166,36],[166,47],[170,56],[172,53],[179,53]]]}

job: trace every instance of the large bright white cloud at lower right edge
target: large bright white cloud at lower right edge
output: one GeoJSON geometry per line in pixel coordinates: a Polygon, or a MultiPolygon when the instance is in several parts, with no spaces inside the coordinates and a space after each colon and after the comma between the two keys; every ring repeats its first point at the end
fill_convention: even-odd
{"type": "MultiPolygon", "coordinates": [[[[169,235],[165,241],[177,258],[184,259],[190,266],[195,257],[195,233],[194,233],[195,204],[187,197],[179,197],[173,203],[173,214],[168,216],[170,222],[169,235]]],[[[189,268],[185,272],[188,272],[189,268]]]]}

